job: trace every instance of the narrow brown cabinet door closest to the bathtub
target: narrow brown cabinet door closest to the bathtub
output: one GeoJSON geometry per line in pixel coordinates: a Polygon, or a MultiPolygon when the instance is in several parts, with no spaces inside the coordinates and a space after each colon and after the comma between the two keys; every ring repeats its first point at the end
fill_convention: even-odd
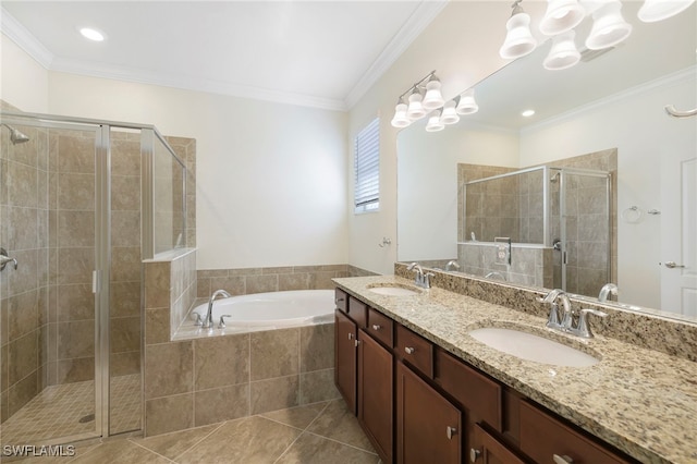
{"type": "Polygon", "coordinates": [[[341,310],[334,312],[334,383],[356,414],[356,325],[341,310]]]}

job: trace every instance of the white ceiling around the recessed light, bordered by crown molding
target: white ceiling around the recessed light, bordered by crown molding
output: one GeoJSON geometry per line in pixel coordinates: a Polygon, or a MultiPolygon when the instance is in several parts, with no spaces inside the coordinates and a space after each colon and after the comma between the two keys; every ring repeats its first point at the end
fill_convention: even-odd
{"type": "Polygon", "coordinates": [[[52,71],[346,110],[445,3],[2,0],[1,24],[52,71]]]}

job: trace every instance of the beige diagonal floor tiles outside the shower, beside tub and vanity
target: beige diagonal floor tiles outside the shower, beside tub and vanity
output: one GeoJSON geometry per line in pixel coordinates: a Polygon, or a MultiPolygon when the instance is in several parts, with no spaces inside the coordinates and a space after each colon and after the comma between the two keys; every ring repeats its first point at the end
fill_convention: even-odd
{"type": "Polygon", "coordinates": [[[86,443],[73,457],[21,462],[377,464],[380,460],[343,400],[333,400],[156,437],[86,443]]]}

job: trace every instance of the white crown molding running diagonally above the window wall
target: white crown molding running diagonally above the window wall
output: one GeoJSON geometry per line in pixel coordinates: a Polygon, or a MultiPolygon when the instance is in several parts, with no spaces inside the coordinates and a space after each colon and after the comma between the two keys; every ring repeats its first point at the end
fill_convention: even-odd
{"type": "Polygon", "coordinates": [[[394,35],[392,40],[382,50],[380,56],[372,62],[370,68],[358,80],[356,85],[348,91],[344,102],[351,109],[358,102],[372,85],[386,73],[386,71],[400,58],[400,56],[412,45],[416,37],[436,19],[450,0],[424,0],[414,10],[406,23],[394,35]]]}

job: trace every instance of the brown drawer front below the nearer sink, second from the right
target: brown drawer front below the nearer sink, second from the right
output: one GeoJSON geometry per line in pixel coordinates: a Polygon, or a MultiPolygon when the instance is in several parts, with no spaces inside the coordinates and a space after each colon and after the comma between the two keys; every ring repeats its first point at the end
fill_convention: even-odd
{"type": "Polygon", "coordinates": [[[502,431],[501,386],[442,350],[436,351],[436,381],[477,419],[502,431]]]}

